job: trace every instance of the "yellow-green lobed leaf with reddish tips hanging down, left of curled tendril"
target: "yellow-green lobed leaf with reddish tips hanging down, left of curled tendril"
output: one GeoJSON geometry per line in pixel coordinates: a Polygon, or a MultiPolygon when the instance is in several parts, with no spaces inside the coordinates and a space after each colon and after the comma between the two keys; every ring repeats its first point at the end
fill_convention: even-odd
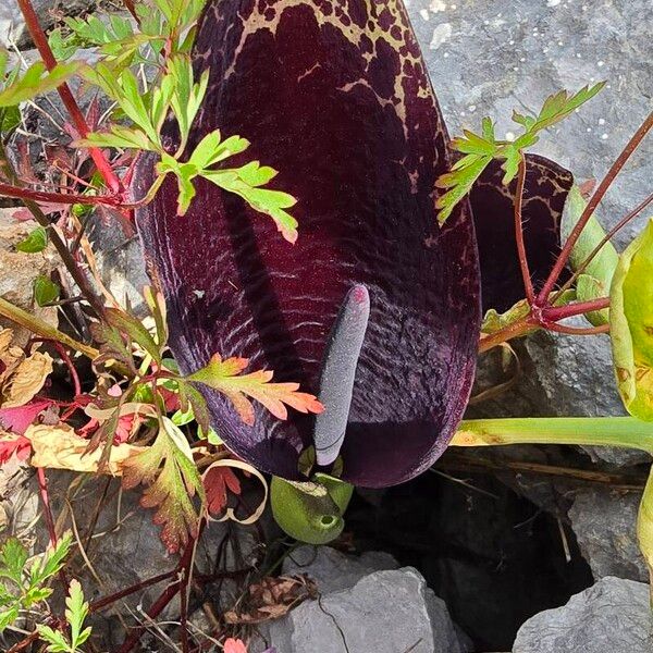
{"type": "MultiPolygon", "coordinates": [[[[146,485],[140,504],[157,508],[155,522],[163,527],[161,538],[170,552],[176,552],[196,537],[199,515],[193,505],[198,495],[204,503],[201,478],[185,447],[184,434],[172,421],[162,417],[153,444],[123,464],[123,485],[126,490],[139,483],[146,485]]],[[[187,446],[187,444],[186,444],[187,446]]]]}

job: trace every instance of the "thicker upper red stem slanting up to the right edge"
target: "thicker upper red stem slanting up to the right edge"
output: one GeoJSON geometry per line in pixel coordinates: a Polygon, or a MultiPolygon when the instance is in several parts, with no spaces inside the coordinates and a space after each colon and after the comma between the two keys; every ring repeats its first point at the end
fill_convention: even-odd
{"type": "Polygon", "coordinates": [[[626,161],[628,161],[628,159],[630,158],[632,152],[637,149],[639,144],[643,140],[644,136],[649,133],[651,127],[653,127],[653,112],[651,112],[648,115],[646,120],[644,120],[644,122],[640,125],[639,130],[634,133],[632,138],[628,141],[628,145],[626,145],[626,147],[624,148],[621,153],[617,157],[616,161],[612,164],[611,169],[607,171],[607,174],[605,175],[605,177],[603,178],[603,181],[601,182],[601,184],[599,185],[599,187],[592,195],[590,201],[588,202],[588,206],[584,208],[584,211],[580,215],[580,219],[578,220],[578,222],[571,230],[571,233],[569,234],[569,237],[567,238],[567,242],[565,243],[557,260],[555,262],[555,266],[553,267],[553,270],[549,274],[546,282],[542,286],[542,289],[540,291],[540,293],[537,297],[537,304],[539,306],[546,305],[549,295],[551,294],[553,286],[557,283],[557,280],[559,279],[564,267],[566,266],[567,261],[569,260],[571,250],[574,249],[574,246],[578,242],[578,238],[580,237],[582,230],[586,227],[588,221],[594,213],[594,210],[599,206],[599,202],[603,199],[603,196],[605,195],[605,193],[612,185],[613,181],[615,180],[617,174],[619,174],[621,168],[624,168],[626,161]]]}

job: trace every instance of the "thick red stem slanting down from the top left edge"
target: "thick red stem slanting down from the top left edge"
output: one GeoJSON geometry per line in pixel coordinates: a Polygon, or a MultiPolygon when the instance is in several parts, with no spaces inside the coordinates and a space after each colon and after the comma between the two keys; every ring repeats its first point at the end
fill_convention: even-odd
{"type": "MultiPolygon", "coordinates": [[[[27,29],[34,40],[35,46],[37,47],[41,59],[44,60],[47,69],[51,71],[57,66],[57,59],[54,59],[54,54],[50,49],[50,45],[48,44],[48,38],[46,34],[41,29],[41,26],[38,22],[38,16],[34,11],[34,7],[32,5],[30,0],[17,0],[21,12],[23,13],[23,17],[25,19],[25,25],[27,25],[27,29]]],[[[86,119],[82,113],[82,109],[79,109],[79,104],[75,100],[73,94],[67,84],[63,83],[58,89],[59,96],[61,97],[61,101],[65,106],[73,123],[75,124],[75,128],[82,136],[82,138],[86,138],[90,133],[90,128],[86,123],[86,119]]],[[[124,192],[123,185],[121,181],[118,178],[116,174],[113,172],[111,168],[111,163],[107,160],[102,150],[94,147],[89,149],[90,156],[98,169],[98,172],[104,178],[107,187],[115,194],[122,194],[124,192]]]]}

